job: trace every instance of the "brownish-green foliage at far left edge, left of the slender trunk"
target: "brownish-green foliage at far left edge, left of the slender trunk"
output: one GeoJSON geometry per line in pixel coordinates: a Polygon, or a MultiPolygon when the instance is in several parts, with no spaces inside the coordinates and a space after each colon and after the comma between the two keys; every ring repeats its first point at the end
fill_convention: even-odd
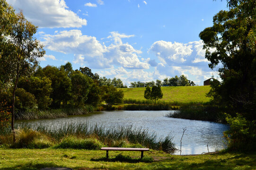
{"type": "Polygon", "coordinates": [[[9,127],[11,122],[10,107],[6,101],[0,102],[0,131],[9,127]]]}

